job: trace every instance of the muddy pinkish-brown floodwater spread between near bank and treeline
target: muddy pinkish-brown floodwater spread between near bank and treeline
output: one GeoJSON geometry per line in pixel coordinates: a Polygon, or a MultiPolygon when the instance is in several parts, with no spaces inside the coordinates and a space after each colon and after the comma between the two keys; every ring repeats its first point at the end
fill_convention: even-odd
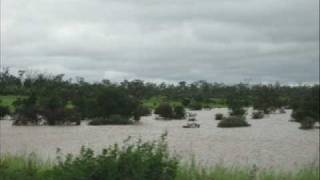
{"type": "MultiPolygon", "coordinates": [[[[250,110],[251,111],[251,110],[250,110]]],[[[215,113],[227,114],[227,109],[194,111],[200,128],[184,129],[187,120],[162,121],[154,116],[143,117],[135,125],[110,126],[19,126],[1,121],[1,153],[35,152],[43,158],[54,158],[57,148],[64,153],[78,153],[82,145],[100,152],[128,136],[142,140],[157,139],[168,132],[170,151],[190,162],[194,158],[202,165],[224,164],[260,168],[293,169],[319,164],[319,129],[300,130],[289,122],[291,111],[271,114],[261,120],[248,116],[251,127],[218,128],[215,113]]],[[[250,114],[250,113],[249,113],[250,114]]]]}

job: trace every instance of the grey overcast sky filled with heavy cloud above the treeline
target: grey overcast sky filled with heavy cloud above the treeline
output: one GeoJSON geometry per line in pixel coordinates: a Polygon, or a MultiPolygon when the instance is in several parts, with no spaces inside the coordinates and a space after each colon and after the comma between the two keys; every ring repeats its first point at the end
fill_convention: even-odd
{"type": "Polygon", "coordinates": [[[1,0],[11,70],[89,81],[319,81],[319,0],[1,0]]]}

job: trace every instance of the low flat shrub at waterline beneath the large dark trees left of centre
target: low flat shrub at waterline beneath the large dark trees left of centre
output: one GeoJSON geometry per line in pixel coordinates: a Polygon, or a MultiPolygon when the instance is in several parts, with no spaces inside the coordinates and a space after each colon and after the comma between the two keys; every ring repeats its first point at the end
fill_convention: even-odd
{"type": "Polygon", "coordinates": [[[89,122],[89,125],[125,125],[132,124],[133,121],[126,116],[121,116],[118,114],[114,114],[109,116],[108,118],[96,118],[89,122]]]}

